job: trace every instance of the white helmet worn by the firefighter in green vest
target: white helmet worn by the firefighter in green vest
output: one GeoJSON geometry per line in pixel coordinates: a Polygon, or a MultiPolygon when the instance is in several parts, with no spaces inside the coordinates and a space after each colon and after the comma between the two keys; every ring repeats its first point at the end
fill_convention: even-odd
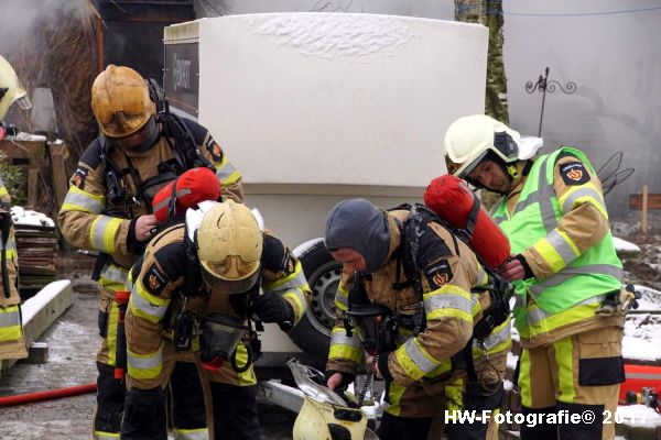
{"type": "Polygon", "coordinates": [[[540,138],[522,139],[518,131],[485,114],[457,119],[447,128],[443,141],[447,172],[460,178],[466,178],[487,156],[509,167],[531,158],[541,146],[540,138]]]}

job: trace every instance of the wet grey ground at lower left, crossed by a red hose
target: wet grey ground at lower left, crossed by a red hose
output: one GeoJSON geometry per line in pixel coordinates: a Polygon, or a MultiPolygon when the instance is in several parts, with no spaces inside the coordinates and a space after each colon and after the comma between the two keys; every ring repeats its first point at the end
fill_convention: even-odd
{"type": "MultiPolygon", "coordinates": [[[[98,294],[89,279],[89,262],[74,254],[61,257],[61,278],[72,279],[74,305],[42,334],[48,344],[45,364],[19,362],[0,377],[0,396],[44,392],[96,381],[95,354],[98,294]]],[[[0,408],[0,439],[87,440],[95,394],[0,408]]],[[[263,440],[291,439],[295,414],[260,404],[263,440]]]]}

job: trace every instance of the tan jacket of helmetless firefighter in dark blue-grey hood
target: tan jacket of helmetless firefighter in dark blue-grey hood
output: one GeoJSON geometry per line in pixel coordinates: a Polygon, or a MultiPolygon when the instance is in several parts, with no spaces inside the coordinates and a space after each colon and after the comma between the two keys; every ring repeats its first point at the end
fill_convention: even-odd
{"type": "MultiPolygon", "coordinates": [[[[473,287],[488,283],[488,276],[474,252],[435,222],[429,223],[427,232],[419,241],[418,266],[422,298],[412,286],[401,289],[393,287],[397,282],[398,252],[401,252],[399,224],[408,215],[407,210],[388,212],[388,260],[379,270],[365,276],[365,288],[372,304],[383,305],[393,312],[409,317],[421,308],[424,310],[424,330],[413,334],[410,329],[400,326],[397,349],[379,355],[379,371],[383,377],[401,386],[410,386],[421,380],[448,377],[454,370],[452,358],[466,348],[472,339],[474,324],[481,318],[483,310],[487,310],[491,304],[488,293],[470,293],[473,287]]],[[[404,277],[403,273],[400,276],[404,277]]],[[[326,365],[328,372],[342,372],[350,376],[358,373],[364,355],[359,336],[353,332],[348,337],[344,324],[353,282],[354,274],[344,271],[335,297],[337,321],[333,328],[326,365]]],[[[481,348],[474,341],[474,358],[507,352],[511,345],[509,329],[508,319],[492,330],[483,341],[481,348]]],[[[484,362],[481,364],[486,366],[484,362]]],[[[478,362],[475,365],[477,370],[478,362]]]]}

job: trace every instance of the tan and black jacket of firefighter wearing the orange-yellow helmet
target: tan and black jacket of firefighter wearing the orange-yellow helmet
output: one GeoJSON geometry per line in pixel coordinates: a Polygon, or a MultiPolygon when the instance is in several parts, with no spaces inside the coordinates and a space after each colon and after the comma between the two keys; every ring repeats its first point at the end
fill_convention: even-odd
{"type": "MultiPolygon", "coordinates": [[[[191,130],[201,154],[216,169],[218,180],[223,185],[223,196],[241,201],[243,196],[241,174],[234,168],[218,143],[204,127],[187,119],[183,121],[191,130]]],[[[175,157],[170,145],[174,145],[175,140],[166,139],[162,127],[160,129],[161,138],[147,152],[109,148],[108,158],[122,170],[121,175],[117,176],[120,186],[126,187],[129,196],[134,196],[134,202],[116,204],[112,200],[112,195],[109,194],[111,188],[108,187],[104,175],[101,138],[97,138],[80,157],[57,216],[59,230],[71,244],[110,256],[102,265],[99,278],[102,290],[109,290],[110,295],[124,288],[128,270],[142,253],[144,243],[134,242],[132,221],[139,216],[151,213],[152,208],[151,199],[141,194],[141,189],[148,180],[158,182],[155,177],[163,175],[163,169],[172,164],[175,157]]],[[[174,178],[174,175],[170,176],[170,180],[174,178]]],[[[151,193],[155,194],[170,180],[158,182],[151,193]]]]}

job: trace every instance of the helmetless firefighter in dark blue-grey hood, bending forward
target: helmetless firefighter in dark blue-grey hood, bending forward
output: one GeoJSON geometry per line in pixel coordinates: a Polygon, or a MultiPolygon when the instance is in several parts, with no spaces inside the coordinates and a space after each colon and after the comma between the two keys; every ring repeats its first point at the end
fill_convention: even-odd
{"type": "Polygon", "coordinates": [[[481,414],[500,406],[509,317],[486,338],[473,338],[491,301],[488,292],[472,294],[472,288],[486,285],[487,274],[473,251],[438,222],[420,223],[419,233],[410,230],[413,216],[413,209],[383,211],[365,199],[344,200],[328,215],[325,244],[343,263],[343,276],[327,386],[353,382],[368,349],[368,371],[387,386],[380,439],[441,438],[437,425],[446,420],[449,439],[496,438],[492,419],[452,421],[455,411],[481,414]],[[381,324],[369,331],[369,322],[381,324]],[[380,342],[371,350],[375,338],[368,336],[375,332],[380,342]]]}

